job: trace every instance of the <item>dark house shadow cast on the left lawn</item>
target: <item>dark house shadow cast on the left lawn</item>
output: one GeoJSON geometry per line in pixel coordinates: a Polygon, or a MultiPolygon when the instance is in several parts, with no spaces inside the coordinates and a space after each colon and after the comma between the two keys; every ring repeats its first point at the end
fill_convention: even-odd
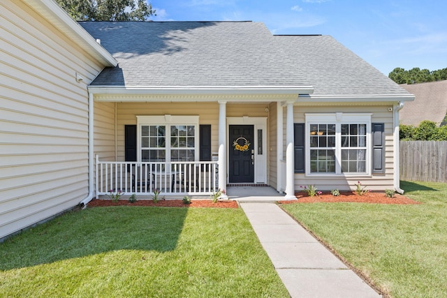
{"type": "Polygon", "coordinates": [[[0,244],[0,270],[119,250],[173,251],[187,212],[160,207],[73,211],[0,244]]]}

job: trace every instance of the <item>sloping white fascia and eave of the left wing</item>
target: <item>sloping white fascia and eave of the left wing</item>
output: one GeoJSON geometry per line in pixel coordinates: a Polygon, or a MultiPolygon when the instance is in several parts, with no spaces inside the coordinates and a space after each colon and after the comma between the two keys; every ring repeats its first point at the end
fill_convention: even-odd
{"type": "Polygon", "coordinates": [[[117,60],[104,47],[96,43],[96,40],[54,0],[28,0],[26,3],[42,15],[45,20],[53,24],[54,27],[61,30],[71,40],[75,41],[75,43],[100,61],[101,64],[104,66],[117,66],[117,60]]]}

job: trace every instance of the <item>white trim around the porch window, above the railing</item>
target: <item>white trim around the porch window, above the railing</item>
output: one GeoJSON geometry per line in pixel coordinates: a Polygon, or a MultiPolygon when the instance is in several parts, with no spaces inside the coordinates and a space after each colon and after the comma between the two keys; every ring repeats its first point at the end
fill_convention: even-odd
{"type": "MultiPolygon", "coordinates": [[[[174,116],[170,114],[159,116],[137,116],[137,161],[141,162],[141,126],[151,125],[189,125],[194,126],[194,160],[199,160],[199,123],[198,116],[174,116]]],[[[170,162],[170,129],[166,128],[166,162],[170,162]]]]}

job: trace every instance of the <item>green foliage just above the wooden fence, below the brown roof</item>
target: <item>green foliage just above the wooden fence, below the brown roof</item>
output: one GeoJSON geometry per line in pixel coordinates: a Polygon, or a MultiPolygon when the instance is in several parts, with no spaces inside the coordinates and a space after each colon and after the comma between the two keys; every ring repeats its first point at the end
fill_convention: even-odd
{"type": "Polygon", "coordinates": [[[437,127],[433,121],[424,120],[419,126],[399,126],[399,138],[405,141],[447,141],[447,126],[437,127]]]}

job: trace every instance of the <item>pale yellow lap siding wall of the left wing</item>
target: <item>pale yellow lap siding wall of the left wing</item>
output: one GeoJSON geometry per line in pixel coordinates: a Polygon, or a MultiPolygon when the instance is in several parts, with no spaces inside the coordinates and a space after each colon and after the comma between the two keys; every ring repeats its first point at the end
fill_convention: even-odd
{"type": "Polygon", "coordinates": [[[102,66],[21,1],[0,12],[1,239],[87,195],[87,83],[102,66]]]}

